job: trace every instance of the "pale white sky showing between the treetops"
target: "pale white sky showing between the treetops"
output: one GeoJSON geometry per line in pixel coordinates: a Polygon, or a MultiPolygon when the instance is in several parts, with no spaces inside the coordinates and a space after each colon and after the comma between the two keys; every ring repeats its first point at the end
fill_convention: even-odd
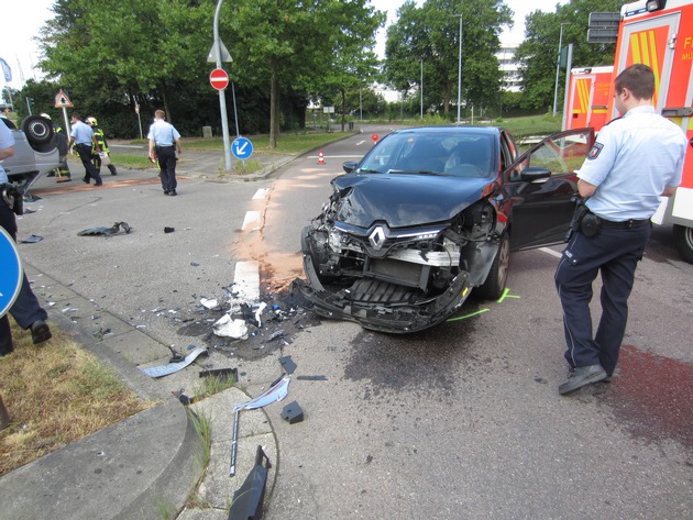
{"type": "MultiPolygon", "coordinates": [[[[13,89],[20,89],[24,80],[40,79],[40,71],[34,71],[33,67],[40,59],[38,47],[32,41],[38,35],[38,30],[46,20],[53,18],[51,7],[54,0],[3,0],[12,3],[10,15],[6,18],[2,30],[0,30],[0,58],[3,58],[12,70],[12,80],[4,81],[4,76],[0,74],[0,85],[10,85],[13,89]]],[[[473,0],[462,0],[473,1],[473,0]]],[[[420,4],[422,0],[417,0],[420,4]]],[[[404,0],[371,0],[371,3],[378,11],[387,11],[387,25],[393,23],[397,15],[397,9],[404,0]]],[[[553,12],[557,3],[564,3],[558,0],[505,0],[505,3],[515,12],[515,27],[510,32],[504,32],[501,40],[503,44],[518,44],[524,38],[525,16],[532,11],[541,10],[553,12]]],[[[211,42],[210,42],[211,44],[211,42]]],[[[385,29],[378,31],[378,43],[376,53],[384,57],[385,53],[385,29]]]]}

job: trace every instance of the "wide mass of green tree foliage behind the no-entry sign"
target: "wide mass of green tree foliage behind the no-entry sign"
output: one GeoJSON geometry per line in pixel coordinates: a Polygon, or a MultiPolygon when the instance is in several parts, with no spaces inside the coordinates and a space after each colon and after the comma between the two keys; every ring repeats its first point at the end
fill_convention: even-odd
{"type": "MultiPolygon", "coordinates": [[[[164,107],[184,134],[218,128],[207,62],[216,8],[217,0],[55,0],[40,66],[81,112],[132,114],[140,104],[148,117],[164,107]]],[[[223,3],[219,33],[234,59],[226,67],[241,129],[270,130],[276,142],[280,128],[305,124],[310,97],[372,75],[383,22],[369,0],[223,3]]]]}

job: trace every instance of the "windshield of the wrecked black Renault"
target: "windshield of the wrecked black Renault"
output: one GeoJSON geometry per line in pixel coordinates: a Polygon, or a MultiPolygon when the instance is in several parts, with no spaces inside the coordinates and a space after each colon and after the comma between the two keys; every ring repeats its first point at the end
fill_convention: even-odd
{"type": "Polygon", "coordinates": [[[364,157],[358,173],[493,177],[493,135],[481,133],[394,133],[364,157]]]}

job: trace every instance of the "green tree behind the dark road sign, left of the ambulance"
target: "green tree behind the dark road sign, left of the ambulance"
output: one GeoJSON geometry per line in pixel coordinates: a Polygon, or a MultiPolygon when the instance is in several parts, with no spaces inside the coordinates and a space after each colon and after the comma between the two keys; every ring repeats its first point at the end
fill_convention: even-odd
{"type": "MultiPolygon", "coordinates": [[[[515,53],[522,76],[524,108],[543,109],[553,103],[561,24],[563,46],[573,44],[573,67],[614,63],[614,44],[587,43],[588,18],[591,12],[620,11],[624,3],[622,0],[570,0],[557,5],[553,13],[535,11],[527,15],[525,41],[515,53]]],[[[563,99],[563,81],[560,80],[558,99],[563,99]]]]}

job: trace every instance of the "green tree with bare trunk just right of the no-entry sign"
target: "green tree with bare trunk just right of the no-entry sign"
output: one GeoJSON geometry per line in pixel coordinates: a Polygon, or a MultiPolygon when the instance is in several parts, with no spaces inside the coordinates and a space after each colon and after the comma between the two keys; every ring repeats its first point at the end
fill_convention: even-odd
{"type": "Polygon", "coordinates": [[[238,56],[232,76],[268,90],[271,147],[280,130],[283,96],[344,91],[373,74],[370,49],[384,18],[367,3],[245,0],[234,5],[227,31],[238,56]]]}

